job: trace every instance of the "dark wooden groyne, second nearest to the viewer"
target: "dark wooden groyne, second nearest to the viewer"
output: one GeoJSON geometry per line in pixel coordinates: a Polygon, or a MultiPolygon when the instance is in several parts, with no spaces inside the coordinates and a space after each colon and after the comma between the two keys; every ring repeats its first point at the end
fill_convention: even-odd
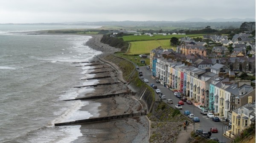
{"type": "Polygon", "coordinates": [[[64,100],[64,101],[109,98],[109,97],[115,97],[115,96],[136,95],[136,93],[137,93],[137,92],[114,93],[114,94],[107,94],[107,95],[96,95],[96,96],[90,96],[90,97],[82,97],[82,98],[75,98],[75,99],[67,99],[67,100],[64,100]]]}

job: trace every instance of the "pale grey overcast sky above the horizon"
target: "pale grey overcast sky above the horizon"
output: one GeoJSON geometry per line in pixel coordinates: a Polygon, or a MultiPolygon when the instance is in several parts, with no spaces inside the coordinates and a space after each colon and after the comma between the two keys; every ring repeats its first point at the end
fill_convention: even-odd
{"type": "Polygon", "coordinates": [[[255,19],[256,0],[1,0],[0,23],[255,19]]]}

